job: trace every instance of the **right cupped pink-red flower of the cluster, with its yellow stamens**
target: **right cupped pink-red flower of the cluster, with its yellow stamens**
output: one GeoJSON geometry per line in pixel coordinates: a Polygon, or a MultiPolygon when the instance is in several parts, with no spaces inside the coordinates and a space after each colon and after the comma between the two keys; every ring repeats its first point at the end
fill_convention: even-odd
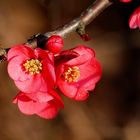
{"type": "Polygon", "coordinates": [[[57,85],[64,95],[85,100],[101,77],[101,67],[92,49],[79,45],[56,58],[57,85]]]}

